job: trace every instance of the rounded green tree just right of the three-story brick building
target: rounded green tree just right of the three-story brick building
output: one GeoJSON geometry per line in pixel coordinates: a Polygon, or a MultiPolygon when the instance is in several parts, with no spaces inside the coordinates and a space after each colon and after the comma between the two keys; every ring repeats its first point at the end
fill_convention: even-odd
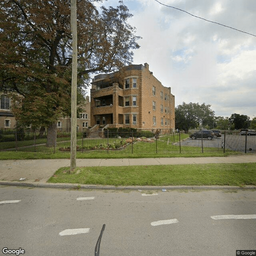
{"type": "Polygon", "coordinates": [[[175,127],[188,132],[190,128],[201,126],[213,126],[214,111],[210,109],[211,105],[202,105],[198,103],[178,105],[175,108],[175,127]]]}

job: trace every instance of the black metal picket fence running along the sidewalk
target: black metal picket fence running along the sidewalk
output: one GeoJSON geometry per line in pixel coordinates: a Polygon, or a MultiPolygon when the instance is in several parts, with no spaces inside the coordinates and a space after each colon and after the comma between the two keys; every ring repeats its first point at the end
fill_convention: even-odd
{"type": "MultiPolygon", "coordinates": [[[[219,138],[192,139],[190,134],[172,130],[129,130],[109,131],[89,129],[77,131],[77,151],[108,154],[138,153],[204,153],[244,152],[256,153],[256,136],[240,135],[240,131],[222,131],[219,138]]],[[[46,146],[47,132],[0,130],[0,152],[70,152],[70,131],[59,131],[54,146],[46,146]]]]}

